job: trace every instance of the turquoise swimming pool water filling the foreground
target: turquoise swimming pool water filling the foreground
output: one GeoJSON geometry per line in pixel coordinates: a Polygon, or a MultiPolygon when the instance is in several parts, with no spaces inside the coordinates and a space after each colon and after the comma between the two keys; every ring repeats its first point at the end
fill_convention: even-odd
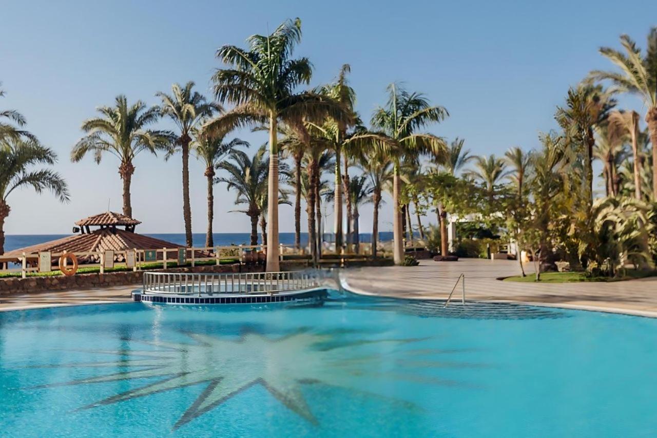
{"type": "Polygon", "coordinates": [[[652,437],[657,320],[335,295],[0,313],[3,437],[652,437]]]}

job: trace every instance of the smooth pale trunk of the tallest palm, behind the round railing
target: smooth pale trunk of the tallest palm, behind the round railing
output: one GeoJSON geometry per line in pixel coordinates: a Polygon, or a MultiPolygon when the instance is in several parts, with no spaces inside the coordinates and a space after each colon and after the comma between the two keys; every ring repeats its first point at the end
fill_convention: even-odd
{"type": "Polygon", "coordinates": [[[277,118],[269,116],[269,178],[267,181],[267,271],[281,270],[279,265],[279,147],[277,118]]]}

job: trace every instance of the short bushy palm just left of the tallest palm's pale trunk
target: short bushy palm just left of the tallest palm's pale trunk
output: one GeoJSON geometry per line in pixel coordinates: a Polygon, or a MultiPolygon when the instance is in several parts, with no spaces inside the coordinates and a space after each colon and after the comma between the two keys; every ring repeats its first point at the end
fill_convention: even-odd
{"type": "Polygon", "coordinates": [[[246,213],[251,219],[251,243],[258,245],[258,218],[260,218],[261,199],[267,193],[267,176],[269,174],[269,157],[266,157],[267,147],[263,145],[256,155],[250,158],[246,153],[233,149],[230,161],[222,161],[218,169],[226,170],[227,178],[215,178],[215,183],[227,183],[227,190],[237,191],[235,205],[246,205],[245,210],[235,210],[246,213]]]}

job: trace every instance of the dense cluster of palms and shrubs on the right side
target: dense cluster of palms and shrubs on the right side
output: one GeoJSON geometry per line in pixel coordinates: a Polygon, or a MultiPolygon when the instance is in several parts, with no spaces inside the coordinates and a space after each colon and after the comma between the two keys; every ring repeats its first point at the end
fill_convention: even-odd
{"type": "Polygon", "coordinates": [[[485,226],[533,255],[537,276],[556,260],[610,275],[626,262],[652,267],[657,259],[657,28],[648,34],[646,51],[628,36],[620,41],[621,51],[600,48],[616,70],[595,70],[568,90],[555,112],[559,128],[539,135],[539,148],[472,157],[455,141],[434,168],[407,187],[405,199],[420,197],[423,208],[437,208],[440,216],[445,210],[476,213],[485,226]],[[643,99],[645,129],[639,112],[618,108],[623,93],[643,99]],[[594,184],[594,160],[602,164],[601,190],[594,184]],[[461,177],[454,180],[457,169],[461,177]]]}

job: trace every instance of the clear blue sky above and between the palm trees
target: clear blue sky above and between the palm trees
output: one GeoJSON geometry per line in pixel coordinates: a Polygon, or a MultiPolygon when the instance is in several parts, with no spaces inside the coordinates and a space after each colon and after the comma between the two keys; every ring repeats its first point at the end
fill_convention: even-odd
{"type": "MultiPolygon", "coordinates": [[[[512,145],[531,149],[537,133],[555,127],[552,114],[569,85],[610,64],[600,45],[618,47],[627,33],[645,47],[657,24],[657,3],[635,1],[623,14],[618,1],[7,1],[0,2],[0,108],[20,110],[28,129],[60,156],[72,202],[47,194],[12,194],[7,233],[66,233],[78,218],[121,210],[118,163],[107,156],[71,164],[81,122],[95,107],[124,93],[129,101],[158,103],[154,93],[194,80],[209,94],[214,58],[225,43],[243,45],[285,18],[302,19],[296,55],[315,66],[313,84],[330,81],[351,64],[351,85],[364,120],[384,102],[384,89],[403,81],[423,91],[451,116],[430,129],[459,136],[477,154],[502,154],[512,145]],[[47,218],[47,220],[45,220],[47,218]]],[[[623,105],[643,112],[637,99],[623,105]]],[[[162,126],[167,126],[162,123],[162,126]]],[[[252,141],[265,134],[238,132],[252,141]]],[[[141,231],[182,232],[180,158],[143,155],[135,163],[133,214],[141,231]]],[[[203,169],[191,164],[193,230],[206,222],[203,169]]],[[[235,196],[215,187],[214,229],[248,231],[243,214],[222,214],[235,196]]],[[[329,212],[330,213],[330,212],[329,212]]],[[[281,231],[293,231],[292,208],[281,208],[281,231]]],[[[371,229],[371,208],[361,230],[371,229]]],[[[302,221],[305,223],[305,220],[302,221]]],[[[382,212],[390,230],[390,203],[382,212]]]]}

